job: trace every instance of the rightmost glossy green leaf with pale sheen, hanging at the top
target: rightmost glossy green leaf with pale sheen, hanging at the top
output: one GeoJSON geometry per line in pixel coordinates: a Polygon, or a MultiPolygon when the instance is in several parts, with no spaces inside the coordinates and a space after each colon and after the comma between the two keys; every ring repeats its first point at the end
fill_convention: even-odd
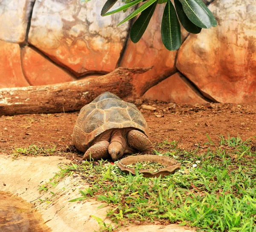
{"type": "MultiPolygon", "coordinates": [[[[189,20],[201,28],[210,28],[212,20],[207,10],[196,0],[179,0],[189,20]]],[[[207,7],[206,7],[207,8],[207,7]]],[[[207,8],[208,9],[208,8],[207,8]]]]}

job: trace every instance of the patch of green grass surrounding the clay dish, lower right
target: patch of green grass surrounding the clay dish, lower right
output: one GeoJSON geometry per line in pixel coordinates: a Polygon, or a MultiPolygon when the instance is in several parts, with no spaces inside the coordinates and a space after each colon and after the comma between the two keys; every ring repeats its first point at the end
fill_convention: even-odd
{"type": "MultiPolygon", "coordinates": [[[[66,175],[81,175],[90,188],[80,189],[81,197],[71,202],[96,198],[102,206],[111,206],[108,217],[118,224],[159,221],[204,231],[256,232],[254,139],[221,136],[213,143],[209,138],[206,149],[198,145],[192,151],[164,141],[155,153],[182,164],[165,177],[126,175],[115,164],[100,160],[64,166],[50,182],[56,185],[66,175]]],[[[113,229],[100,218],[97,221],[103,230],[113,229]]]]}

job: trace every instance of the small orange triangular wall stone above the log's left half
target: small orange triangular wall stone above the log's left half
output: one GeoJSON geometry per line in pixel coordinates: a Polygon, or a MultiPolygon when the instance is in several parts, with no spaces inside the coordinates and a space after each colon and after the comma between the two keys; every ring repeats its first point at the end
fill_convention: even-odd
{"type": "Polygon", "coordinates": [[[75,80],[71,74],[59,68],[32,48],[25,47],[21,54],[23,72],[32,86],[75,80]]]}

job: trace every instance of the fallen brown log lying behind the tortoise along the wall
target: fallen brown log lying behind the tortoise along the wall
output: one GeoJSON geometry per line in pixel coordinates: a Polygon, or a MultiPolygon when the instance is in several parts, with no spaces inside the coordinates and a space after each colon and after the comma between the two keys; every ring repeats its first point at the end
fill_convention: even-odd
{"type": "Polygon", "coordinates": [[[99,76],[46,86],[0,89],[0,115],[41,114],[80,110],[103,92],[134,102],[137,95],[132,76],[149,68],[117,68],[99,76]]]}

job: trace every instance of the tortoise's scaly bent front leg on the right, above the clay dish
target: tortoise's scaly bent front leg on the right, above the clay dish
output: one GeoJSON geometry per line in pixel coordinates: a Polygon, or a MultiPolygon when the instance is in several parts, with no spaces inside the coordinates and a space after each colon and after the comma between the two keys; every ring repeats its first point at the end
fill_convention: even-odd
{"type": "Polygon", "coordinates": [[[139,150],[143,155],[153,152],[153,146],[148,137],[138,130],[128,132],[127,142],[131,148],[139,150]]]}

